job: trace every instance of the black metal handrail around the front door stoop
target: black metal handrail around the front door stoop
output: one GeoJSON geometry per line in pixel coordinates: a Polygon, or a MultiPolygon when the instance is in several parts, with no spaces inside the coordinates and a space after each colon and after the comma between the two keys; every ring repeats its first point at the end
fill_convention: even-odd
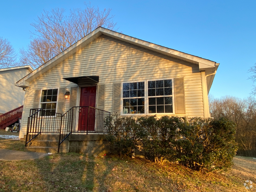
{"type": "Polygon", "coordinates": [[[89,106],[71,107],[64,114],[30,109],[25,146],[31,145],[41,133],[58,133],[59,152],[60,144],[72,133],[108,133],[106,119],[109,117],[110,112],[89,106]]]}

